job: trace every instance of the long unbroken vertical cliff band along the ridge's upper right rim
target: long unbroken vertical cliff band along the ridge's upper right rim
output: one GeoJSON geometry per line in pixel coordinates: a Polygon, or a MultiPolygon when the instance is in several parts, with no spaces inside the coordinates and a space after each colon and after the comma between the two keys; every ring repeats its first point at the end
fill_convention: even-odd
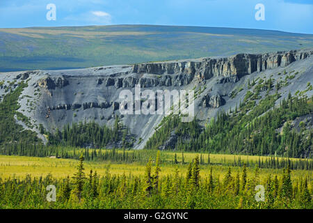
{"type": "Polygon", "coordinates": [[[202,59],[202,61],[182,61],[163,63],[141,63],[132,68],[134,73],[150,73],[156,75],[181,73],[196,75],[202,79],[211,77],[229,77],[248,75],[255,71],[285,67],[294,61],[305,59],[313,51],[278,52],[276,54],[236,54],[228,58],[202,59]]]}

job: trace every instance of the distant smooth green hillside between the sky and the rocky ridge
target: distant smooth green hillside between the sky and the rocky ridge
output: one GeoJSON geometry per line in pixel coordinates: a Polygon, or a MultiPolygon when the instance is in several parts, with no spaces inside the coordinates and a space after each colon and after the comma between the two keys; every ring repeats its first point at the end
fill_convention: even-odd
{"type": "Polygon", "coordinates": [[[0,72],[227,56],[313,47],[313,35],[192,26],[0,29],[0,72]]]}

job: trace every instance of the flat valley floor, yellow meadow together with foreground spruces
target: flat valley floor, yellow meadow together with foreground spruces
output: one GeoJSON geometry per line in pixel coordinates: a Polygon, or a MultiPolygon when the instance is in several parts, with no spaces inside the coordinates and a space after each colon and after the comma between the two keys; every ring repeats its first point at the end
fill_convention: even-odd
{"type": "MultiPolygon", "coordinates": [[[[116,153],[126,161],[127,153],[135,154],[116,153]]],[[[243,166],[234,166],[239,156],[190,152],[183,160],[182,153],[136,151],[140,155],[138,162],[0,155],[0,209],[313,207],[307,169],[259,169],[267,157],[257,156],[241,156],[243,166]],[[54,202],[46,199],[47,185],[56,187],[54,202]],[[257,185],[264,202],[255,198],[257,185]]]]}

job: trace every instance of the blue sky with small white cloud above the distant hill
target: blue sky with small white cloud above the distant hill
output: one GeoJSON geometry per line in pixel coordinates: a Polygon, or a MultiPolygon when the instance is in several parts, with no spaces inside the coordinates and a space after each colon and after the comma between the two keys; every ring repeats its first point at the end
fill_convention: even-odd
{"type": "Polygon", "coordinates": [[[313,0],[0,0],[0,27],[161,24],[313,33],[313,0]],[[56,20],[48,21],[48,3],[56,20]],[[255,20],[263,3],[265,20],[255,20]]]}

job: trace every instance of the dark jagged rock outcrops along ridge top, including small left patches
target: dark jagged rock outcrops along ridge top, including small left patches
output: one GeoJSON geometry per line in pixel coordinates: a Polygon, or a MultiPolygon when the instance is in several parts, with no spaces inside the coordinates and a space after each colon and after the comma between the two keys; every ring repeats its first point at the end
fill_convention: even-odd
{"type": "MultiPolygon", "coordinates": [[[[220,77],[218,84],[235,83],[244,75],[285,67],[312,54],[313,51],[290,51],[276,54],[236,54],[227,58],[205,58],[199,61],[141,63],[132,66],[130,72],[99,77],[96,82],[97,85],[115,86],[115,89],[134,88],[136,84],[140,84],[142,88],[185,86],[194,79],[203,81],[211,77],[220,77]],[[143,74],[150,74],[152,77],[142,77],[143,74]]],[[[104,68],[95,69],[95,71],[99,70],[104,68]]],[[[24,74],[22,78],[28,77],[24,74]]],[[[45,77],[38,82],[38,85],[47,89],[62,89],[69,84],[67,77],[69,76],[45,77]]]]}

